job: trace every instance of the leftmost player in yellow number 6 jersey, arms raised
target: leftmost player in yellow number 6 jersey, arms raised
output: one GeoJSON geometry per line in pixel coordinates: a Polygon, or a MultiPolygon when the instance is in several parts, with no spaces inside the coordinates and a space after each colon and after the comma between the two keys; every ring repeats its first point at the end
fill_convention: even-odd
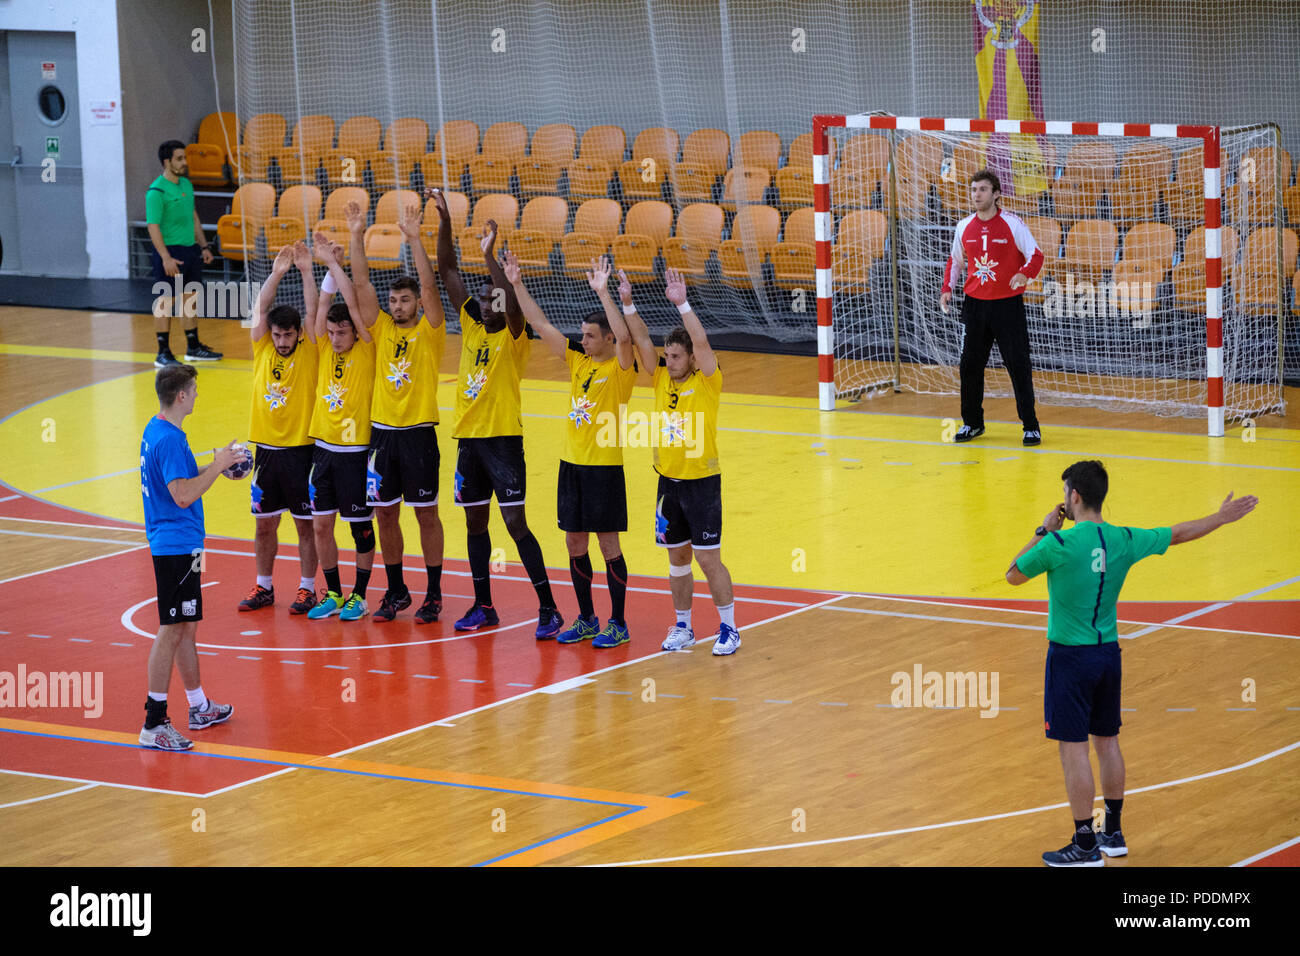
{"type": "Polygon", "coordinates": [[[252,514],[256,535],[254,554],[257,583],[239,610],[252,611],[276,604],[272,571],[280,550],[280,515],[289,511],[298,525],[298,561],[302,578],[290,614],[306,614],[316,605],[316,536],[312,531],[307,476],[312,470],[312,421],[316,390],[316,332],[304,330],[292,306],[274,306],[280,280],[296,265],[303,276],[303,311],[316,317],[316,278],[306,242],[285,246],[270,267],[270,276],[257,295],[252,313],[252,414],[248,442],[255,449],[252,514]]]}

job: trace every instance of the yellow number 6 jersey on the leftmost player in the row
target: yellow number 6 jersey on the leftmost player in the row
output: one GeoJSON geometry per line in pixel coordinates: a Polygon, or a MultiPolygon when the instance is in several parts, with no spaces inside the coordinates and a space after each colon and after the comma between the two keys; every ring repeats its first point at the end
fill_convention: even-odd
{"type": "Polygon", "coordinates": [[[252,343],[248,441],[286,449],[312,444],[317,359],[316,343],[306,336],[287,356],[276,351],[269,330],[252,343]]]}

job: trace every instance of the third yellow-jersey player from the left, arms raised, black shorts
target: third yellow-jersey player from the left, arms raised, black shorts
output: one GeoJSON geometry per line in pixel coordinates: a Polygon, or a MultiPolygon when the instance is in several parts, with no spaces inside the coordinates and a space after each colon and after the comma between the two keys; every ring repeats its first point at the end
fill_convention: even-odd
{"type": "Polygon", "coordinates": [[[429,624],[442,611],[442,520],[438,518],[438,372],[447,345],[442,295],[429,256],[420,245],[420,209],[400,208],[398,228],[411,247],[420,281],[398,277],[389,286],[389,311],[370,284],[365,261],[365,215],[347,204],[352,239],[352,285],[361,323],[374,338],[374,397],[370,403],[370,450],[367,455],[367,501],[380,525],[380,549],[387,589],[376,620],[393,620],[411,606],[402,579],[406,541],[399,523],[402,502],[415,510],[420,545],[429,575],[417,624],[429,624]],[[420,310],[424,308],[424,319],[420,310]]]}

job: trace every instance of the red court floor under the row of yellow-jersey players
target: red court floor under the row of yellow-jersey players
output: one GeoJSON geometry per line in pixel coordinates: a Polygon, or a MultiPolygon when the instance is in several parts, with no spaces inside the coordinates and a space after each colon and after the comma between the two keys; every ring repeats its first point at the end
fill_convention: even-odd
{"type": "MultiPolygon", "coordinates": [[[[0,518],[18,516],[65,524],[60,532],[103,540],[95,528],[127,528],[27,498],[0,505],[0,518]]],[[[51,531],[48,525],[31,525],[51,531]]],[[[443,567],[442,619],[416,624],[412,614],[424,600],[426,576],[419,554],[408,557],[404,579],[413,597],[398,619],[378,623],[367,617],[308,620],[290,617],[298,581],[296,549],[281,544],[276,563],[273,607],[239,613],[237,605],[254,583],[252,544],[208,538],[203,572],[203,622],[198,643],[203,687],[234,718],[196,732],[205,741],[270,750],[337,754],[384,737],[446,721],[510,697],[581,679],[586,674],[659,652],[672,604],[664,578],[632,575],[628,581],[630,644],[598,650],[589,641],[558,645],[538,641],[537,596],[519,564],[493,575],[493,598],[500,624],[476,633],[456,633],[452,623],[473,604],[465,562],[443,567]]],[[[98,546],[98,545],[96,545],[98,546]]],[[[124,545],[130,546],[130,545],[124,545]]],[[[341,554],[344,591],[354,583],[351,553],[341,554]]],[[[318,578],[318,576],[317,576],[318,578]]],[[[608,613],[603,567],[597,559],[597,614],[608,613]]],[[[564,571],[551,571],[551,585],[566,620],[576,614],[572,585],[564,571]]],[[[385,572],[378,567],[367,593],[378,606],[385,572]]],[[[697,580],[694,624],[698,637],[716,630],[716,613],[697,580]]],[[[784,588],[736,587],[736,623],[751,626],[831,594],[784,588]]],[[[0,648],[4,670],[25,665],[35,671],[103,674],[103,713],[83,708],[6,709],[18,721],[69,727],[51,736],[0,732],[4,769],[181,793],[205,795],[263,777],[281,765],[248,760],[185,760],[130,745],[78,741],[77,727],[136,734],[143,721],[146,663],[159,626],[153,567],[147,548],[94,558],[58,570],[0,583],[0,648]]],[[[708,652],[708,645],[702,648],[708,652]]],[[[186,732],[186,700],[173,674],[169,710],[186,732]]]]}

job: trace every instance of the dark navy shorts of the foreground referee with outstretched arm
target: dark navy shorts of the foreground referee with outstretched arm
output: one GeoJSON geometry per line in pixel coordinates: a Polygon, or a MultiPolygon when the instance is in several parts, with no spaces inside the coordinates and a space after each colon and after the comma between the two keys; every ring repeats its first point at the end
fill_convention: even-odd
{"type": "Polygon", "coordinates": [[[1080,743],[1089,734],[1119,732],[1119,641],[1048,643],[1043,722],[1050,740],[1080,743]]]}

